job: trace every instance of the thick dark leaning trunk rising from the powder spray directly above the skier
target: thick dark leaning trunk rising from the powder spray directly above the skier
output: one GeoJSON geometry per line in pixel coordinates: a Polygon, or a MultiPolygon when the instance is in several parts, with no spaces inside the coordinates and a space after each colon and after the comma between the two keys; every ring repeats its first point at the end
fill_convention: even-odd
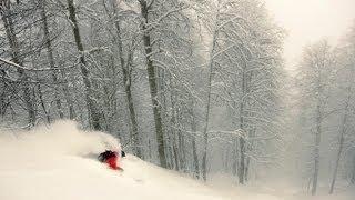
{"type": "Polygon", "coordinates": [[[84,92],[85,92],[85,99],[87,99],[87,106],[88,111],[90,116],[90,124],[94,130],[101,130],[102,127],[100,124],[101,113],[99,112],[97,104],[94,100],[92,99],[92,88],[90,82],[90,71],[87,68],[87,61],[84,57],[84,48],[81,41],[81,36],[79,31],[79,24],[77,21],[77,13],[75,13],[75,7],[73,0],[67,0],[68,2],[68,9],[69,9],[69,19],[72,24],[72,30],[75,39],[75,44],[78,48],[78,51],[80,53],[80,69],[81,69],[81,76],[84,83],[84,92]]]}

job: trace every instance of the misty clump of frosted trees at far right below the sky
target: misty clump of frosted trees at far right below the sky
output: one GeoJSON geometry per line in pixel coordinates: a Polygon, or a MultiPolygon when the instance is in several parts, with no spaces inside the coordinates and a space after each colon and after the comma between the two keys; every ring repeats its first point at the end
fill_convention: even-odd
{"type": "Polygon", "coordinates": [[[339,178],[354,184],[354,47],[353,27],[336,46],[324,39],[305,47],[298,64],[301,147],[308,151],[303,159],[313,194],[318,177],[331,180],[329,193],[339,178]]]}

